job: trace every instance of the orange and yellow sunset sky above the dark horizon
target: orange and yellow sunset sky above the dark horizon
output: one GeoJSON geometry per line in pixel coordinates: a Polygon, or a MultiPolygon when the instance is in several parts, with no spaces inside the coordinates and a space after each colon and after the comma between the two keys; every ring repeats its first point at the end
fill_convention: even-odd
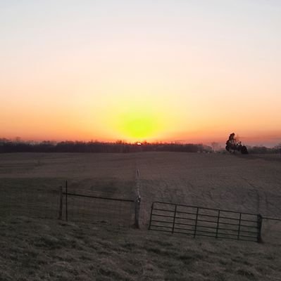
{"type": "Polygon", "coordinates": [[[281,1],[0,0],[0,138],[281,142],[281,1]]]}

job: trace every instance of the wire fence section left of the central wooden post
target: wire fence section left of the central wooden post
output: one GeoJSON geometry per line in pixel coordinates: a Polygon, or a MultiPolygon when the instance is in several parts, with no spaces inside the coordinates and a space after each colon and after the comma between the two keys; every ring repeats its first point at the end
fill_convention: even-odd
{"type": "MultiPolygon", "coordinates": [[[[135,224],[135,202],[111,192],[90,192],[70,183],[68,190],[48,179],[1,179],[0,217],[61,218],[68,221],[135,224]],[[67,195],[65,194],[67,192],[67,195]]],[[[66,182],[67,184],[67,182],[66,182]]]]}

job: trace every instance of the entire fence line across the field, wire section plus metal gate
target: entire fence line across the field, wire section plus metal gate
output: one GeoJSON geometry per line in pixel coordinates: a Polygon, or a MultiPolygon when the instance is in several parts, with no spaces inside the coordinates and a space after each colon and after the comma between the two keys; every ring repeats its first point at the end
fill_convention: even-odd
{"type": "MultiPolygon", "coordinates": [[[[141,204],[139,171],[136,178],[135,199],[129,192],[122,195],[112,192],[112,188],[102,193],[96,187],[96,192],[80,188],[77,183],[59,187],[61,180],[58,179],[1,178],[0,217],[61,218],[138,227],[141,204]]],[[[126,188],[128,190],[129,186],[126,188]]],[[[280,244],[279,218],[163,202],[154,202],[150,215],[151,230],[280,244]]]]}

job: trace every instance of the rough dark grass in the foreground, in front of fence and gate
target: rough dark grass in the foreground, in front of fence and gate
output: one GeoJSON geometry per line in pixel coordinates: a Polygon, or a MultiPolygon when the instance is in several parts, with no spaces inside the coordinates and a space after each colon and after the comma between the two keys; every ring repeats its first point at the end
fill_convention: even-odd
{"type": "Polygon", "coordinates": [[[0,280],[281,280],[274,244],[25,216],[0,221],[0,280]]]}

